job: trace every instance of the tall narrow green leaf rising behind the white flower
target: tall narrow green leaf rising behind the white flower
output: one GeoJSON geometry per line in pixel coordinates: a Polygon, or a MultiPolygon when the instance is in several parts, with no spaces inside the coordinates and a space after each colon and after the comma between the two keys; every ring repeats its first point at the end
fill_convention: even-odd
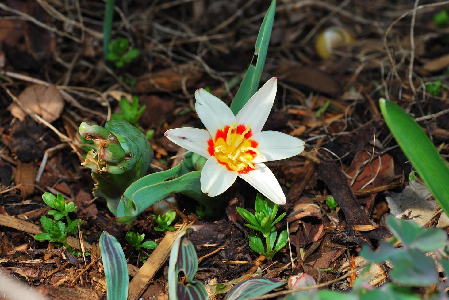
{"type": "Polygon", "coordinates": [[[237,94],[231,103],[231,110],[234,115],[247,104],[251,96],[255,94],[260,83],[260,76],[264,70],[265,59],[267,57],[268,43],[270,41],[271,29],[273,28],[274,13],[276,11],[276,0],[273,0],[270,7],[265,14],[264,21],[260,26],[259,35],[255,42],[254,55],[257,56],[257,62],[254,65],[250,65],[245,77],[242,80],[237,94]]]}

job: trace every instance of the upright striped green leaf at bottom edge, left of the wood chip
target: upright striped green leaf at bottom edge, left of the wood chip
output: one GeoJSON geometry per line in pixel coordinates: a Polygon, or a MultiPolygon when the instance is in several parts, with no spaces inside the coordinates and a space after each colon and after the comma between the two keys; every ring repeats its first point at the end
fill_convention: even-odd
{"type": "Polygon", "coordinates": [[[128,266],[119,241],[106,231],[100,235],[100,250],[105,268],[108,300],[128,298],[128,266]]]}

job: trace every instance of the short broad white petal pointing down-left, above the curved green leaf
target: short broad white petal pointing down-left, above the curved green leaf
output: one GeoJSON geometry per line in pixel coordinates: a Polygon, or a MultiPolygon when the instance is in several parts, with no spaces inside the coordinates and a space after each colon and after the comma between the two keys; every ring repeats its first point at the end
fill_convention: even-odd
{"type": "Polygon", "coordinates": [[[236,178],[237,172],[229,171],[211,156],[201,171],[201,191],[211,197],[218,196],[226,191],[236,178]]]}

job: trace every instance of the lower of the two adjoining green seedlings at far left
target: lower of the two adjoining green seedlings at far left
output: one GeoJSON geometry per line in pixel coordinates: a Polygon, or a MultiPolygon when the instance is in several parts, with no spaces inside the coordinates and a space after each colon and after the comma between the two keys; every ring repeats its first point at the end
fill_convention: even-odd
{"type": "Polygon", "coordinates": [[[34,239],[38,241],[48,240],[50,243],[59,242],[64,244],[70,252],[73,252],[73,249],[66,242],[66,237],[71,230],[76,229],[78,220],[69,222],[69,226],[66,227],[66,224],[62,221],[53,222],[49,217],[42,216],[40,217],[40,224],[46,232],[38,233],[34,236],[34,239]]]}

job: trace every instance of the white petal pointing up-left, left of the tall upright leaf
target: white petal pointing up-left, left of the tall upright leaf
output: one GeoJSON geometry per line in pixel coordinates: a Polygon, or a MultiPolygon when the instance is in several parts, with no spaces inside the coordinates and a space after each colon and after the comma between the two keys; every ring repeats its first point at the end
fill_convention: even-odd
{"type": "Polygon", "coordinates": [[[196,90],[195,99],[198,117],[212,136],[215,136],[218,129],[224,129],[226,125],[231,126],[236,122],[228,105],[205,89],[196,90]]]}

